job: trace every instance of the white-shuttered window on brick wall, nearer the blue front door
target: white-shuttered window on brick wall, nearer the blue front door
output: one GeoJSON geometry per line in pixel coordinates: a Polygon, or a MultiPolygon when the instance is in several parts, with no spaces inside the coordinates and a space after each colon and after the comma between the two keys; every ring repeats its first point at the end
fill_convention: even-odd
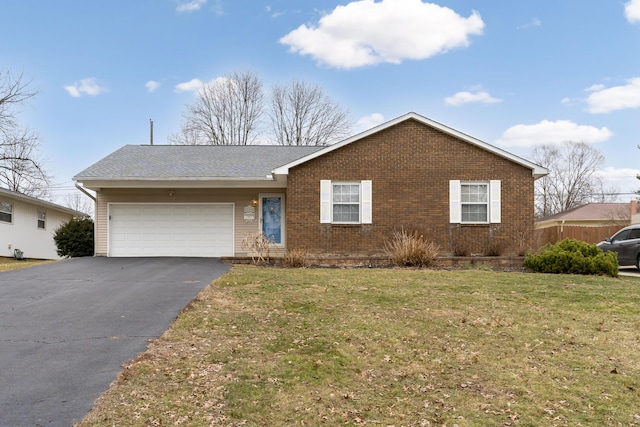
{"type": "Polygon", "coordinates": [[[371,181],[320,181],[320,222],[371,224],[371,181]]]}

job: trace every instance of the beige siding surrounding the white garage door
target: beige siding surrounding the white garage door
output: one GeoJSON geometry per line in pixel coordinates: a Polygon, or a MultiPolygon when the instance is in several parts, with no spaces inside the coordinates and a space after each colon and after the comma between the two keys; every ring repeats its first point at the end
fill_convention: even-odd
{"type": "MultiPolygon", "coordinates": [[[[97,192],[96,203],[96,256],[108,254],[108,205],[109,203],[234,203],[234,247],[235,256],[246,256],[242,240],[248,233],[260,230],[259,214],[256,208],[255,220],[245,221],[244,207],[258,195],[258,189],[176,189],[169,196],[169,189],[102,189],[97,192]]],[[[285,193],[284,189],[269,189],[269,193],[285,193]]]]}

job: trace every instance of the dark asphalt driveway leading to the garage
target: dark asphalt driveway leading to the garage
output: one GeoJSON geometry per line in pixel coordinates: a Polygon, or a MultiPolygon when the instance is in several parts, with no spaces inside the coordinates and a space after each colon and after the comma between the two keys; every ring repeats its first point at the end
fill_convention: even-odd
{"type": "Polygon", "coordinates": [[[0,273],[0,426],[81,421],[121,365],[228,269],[97,257],[0,273]]]}

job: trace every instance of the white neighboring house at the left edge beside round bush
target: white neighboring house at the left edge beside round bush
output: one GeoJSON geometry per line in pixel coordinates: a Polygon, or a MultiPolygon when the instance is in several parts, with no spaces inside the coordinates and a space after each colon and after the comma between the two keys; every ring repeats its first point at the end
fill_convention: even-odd
{"type": "Polygon", "coordinates": [[[60,259],[53,235],[63,223],[82,212],[0,188],[0,256],[60,259]]]}

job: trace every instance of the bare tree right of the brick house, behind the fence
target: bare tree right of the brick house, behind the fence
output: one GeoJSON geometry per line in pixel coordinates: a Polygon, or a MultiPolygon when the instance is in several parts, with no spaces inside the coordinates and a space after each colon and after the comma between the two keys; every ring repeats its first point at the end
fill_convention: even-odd
{"type": "Polygon", "coordinates": [[[536,216],[544,217],[585,203],[603,201],[598,170],[604,155],[584,142],[543,145],[533,150],[532,160],[549,170],[536,181],[536,216]]]}

